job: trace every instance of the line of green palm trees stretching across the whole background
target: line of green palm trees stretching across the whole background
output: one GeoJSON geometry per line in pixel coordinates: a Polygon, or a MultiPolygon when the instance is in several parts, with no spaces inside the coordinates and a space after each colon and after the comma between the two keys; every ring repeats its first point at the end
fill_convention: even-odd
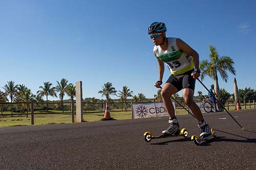
{"type": "MultiPolygon", "coordinates": [[[[228,71],[231,74],[236,75],[236,70],[233,67],[233,60],[229,56],[219,56],[216,47],[209,45],[209,59],[202,60],[200,62],[199,68],[201,69],[201,80],[203,81],[206,76],[209,76],[215,82],[215,91],[217,93],[218,99],[224,101],[230,98],[230,95],[225,89],[219,89],[219,78],[218,75],[222,78],[223,81],[227,82],[228,80],[228,71]]],[[[72,83],[68,83],[68,80],[61,79],[60,82],[57,81],[57,85],[53,86],[50,82],[44,82],[43,86],[40,86],[39,89],[34,95],[30,89],[28,89],[24,84],[15,85],[13,81],[7,82],[3,87],[5,91],[0,90],[0,102],[8,102],[8,96],[10,102],[43,102],[42,97],[46,96],[47,102],[47,111],[48,111],[48,96],[57,97],[59,94],[59,99],[61,101],[61,107],[63,110],[63,97],[65,94],[70,96],[70,100],[73,101],[75,97],[75,86],[72,83]]],[[[112,102],[111,95],[119,97],[120,102],[123,102],[126,108],[127,98],[132,97],[132,102],[146,102],[145,95],[143,93],[138,93],[133,95],[133,91],[130,90],[127,86],[123,86],[123,89],[116,90],[113,87],[111,82],[107,82],[102,86],[102,90],[99,90],[98,93],[102,94],[105,97],[106,102],[112,102]]],[[[198,91],[199,98],[202,98],[202,92],[198,91]]],[[[246,87],[244,90],[239,89],[239,98],[241,100],[255,100],[256,92],[250,87],[246,87]]],[[[174,99],[180,98],[178,94],[173,95],[174,99]]],[[[90,102],[97,101],[95,98],[92,98],[90,102]]],[[[157,94],[154,95],[155,102],[162,102],[161,90],[157,91],[157,94]]],[[[12,108],[11,108],[12,111],[12,108]]]]}

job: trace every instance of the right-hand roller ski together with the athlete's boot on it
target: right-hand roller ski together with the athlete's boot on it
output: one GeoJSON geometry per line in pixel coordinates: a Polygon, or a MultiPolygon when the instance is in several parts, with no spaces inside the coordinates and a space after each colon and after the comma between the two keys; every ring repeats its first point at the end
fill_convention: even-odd
{"type": "Polygon", "coordinates": [[[214,132],[214,129],[210,128],[204,120],[203,123],[198,124],[198,127],[201,129],[200,137],[198,137],[197,135],[191,136],[191,140],[194,140],[196,145],[200,145],[201,141],[217,136],[214,132]]]}

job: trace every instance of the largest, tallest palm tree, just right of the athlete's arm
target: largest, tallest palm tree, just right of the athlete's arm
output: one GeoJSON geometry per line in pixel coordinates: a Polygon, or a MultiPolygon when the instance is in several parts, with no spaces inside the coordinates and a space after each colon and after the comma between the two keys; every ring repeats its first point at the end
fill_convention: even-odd
{"type": "Polygon", "coordinates": [[[205,76],[209,76],[211,79],[215,81],[215,91],[218,95],[218,99],[220,99],[220,87],[218,82],[218,74],[219,72],[221,78],[227,82],[228,74],[227,71],[231,72],[231,74],[236,75],[236,70],[233,67],[233,60],[228,56],[219,57],[219,54],[216,48],[212,45],[209,45],[210,49],[210,61],[202,60],[199,68],[202,70],[201,80],[205,78],[205,76]]]}

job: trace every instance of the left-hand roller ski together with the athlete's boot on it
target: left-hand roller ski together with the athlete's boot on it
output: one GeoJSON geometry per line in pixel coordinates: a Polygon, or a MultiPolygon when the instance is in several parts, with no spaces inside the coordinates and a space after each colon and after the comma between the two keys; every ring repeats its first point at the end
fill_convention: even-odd
{"type": "Polygon", "coordinates": [[[152,139],[166,138],[166,137],[175,137],[175,136],[183,136],[187,137],[188,132],[185,128],[179,128],[179,122],[176,117],[169,119],[169,127],[162,131],[161,135],[154,136],[151,132],[144,133],[144,139],[146,142],[150,142],[152,139]]]}

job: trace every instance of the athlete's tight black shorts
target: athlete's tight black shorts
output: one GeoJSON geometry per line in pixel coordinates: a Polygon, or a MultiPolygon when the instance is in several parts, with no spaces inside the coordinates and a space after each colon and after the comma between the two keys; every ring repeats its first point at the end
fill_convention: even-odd
{"type": "Polygon", "coordinates": [[[191,76],[191,73],[194,71],[194,68],[184,72],[182,75],[170,75],[169,79],[166,81],[166,83],[170,83],[174,85],[178,91],[184,88],[190,88],[195,91],[195,84],[196,84],[196,79],[194,79],[191,76]]]}

